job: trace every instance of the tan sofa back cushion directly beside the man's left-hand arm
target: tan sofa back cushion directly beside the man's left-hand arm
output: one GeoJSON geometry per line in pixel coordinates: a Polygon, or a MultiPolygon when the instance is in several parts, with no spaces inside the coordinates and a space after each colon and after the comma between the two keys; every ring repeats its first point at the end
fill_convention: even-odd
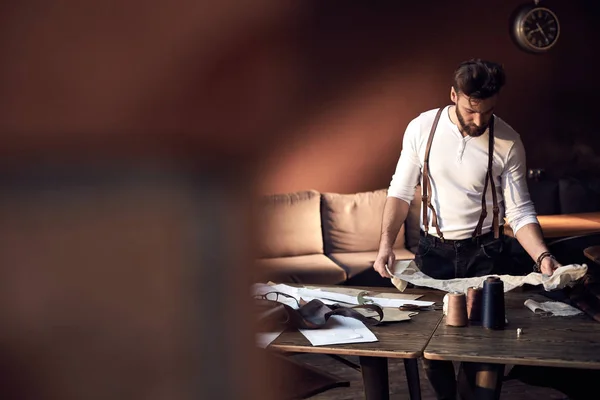
{"type": "MultiPolygon", "coordinates": [[[[386,190],[322,195],[325,252],[360,252],[379,248],[386,190]]],[[[394,247],[404,247],[404,226],[394,247]]]]}

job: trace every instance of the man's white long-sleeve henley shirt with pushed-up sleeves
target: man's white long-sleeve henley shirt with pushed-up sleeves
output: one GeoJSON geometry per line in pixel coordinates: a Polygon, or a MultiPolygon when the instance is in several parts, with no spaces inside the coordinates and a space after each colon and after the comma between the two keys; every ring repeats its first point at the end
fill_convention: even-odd
{"type": "MultiPolygon", "coordinates": [[[[446,107],[442,112],[429,154],[431,205],[437,213],[444,238],[460,240],[472,237],[481,215],[489,130],[479,137],[463,137],[450,120],[449,110],[450,107],[446,107]]],[[[427,139],[437,111],[426,111],[408,124],[388,196],[409,204],[414,198],[415,186],[421,182],[427,139]]],[[[524,225],[539,223],[527,189],[525,149],[513,128],[497,116],[494,119],[492,172],[500,208],[499,222],[502,224],[506,217],[517,233],[524,225]]],[[[489,184],[486,203],[488,215],[483,222],[483,233],[492,229],[493,200],[489,184]]],[[[429,233],[437,236],[431,223],[431,210],[428,215],[429,233]]]]}

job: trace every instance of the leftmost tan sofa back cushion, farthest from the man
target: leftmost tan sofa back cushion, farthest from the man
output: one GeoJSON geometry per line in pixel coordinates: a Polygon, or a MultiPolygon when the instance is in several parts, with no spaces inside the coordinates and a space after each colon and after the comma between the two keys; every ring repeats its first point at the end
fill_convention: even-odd
{"type": "Polygon", "coordinates": [[[261,200],[259,257],[323,253],[319,192],[275,194],[261,200]]]}

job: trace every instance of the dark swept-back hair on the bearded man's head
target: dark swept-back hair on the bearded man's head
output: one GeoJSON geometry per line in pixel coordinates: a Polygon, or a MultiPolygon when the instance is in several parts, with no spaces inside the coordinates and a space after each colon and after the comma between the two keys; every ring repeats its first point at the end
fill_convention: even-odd
{"type": "Polygon", "coordinates": [[[500,64],[477,58],[458,66],[452,86],[456,93],[483,100],[498,94],[505,81],[504,68],[500,64]]]}

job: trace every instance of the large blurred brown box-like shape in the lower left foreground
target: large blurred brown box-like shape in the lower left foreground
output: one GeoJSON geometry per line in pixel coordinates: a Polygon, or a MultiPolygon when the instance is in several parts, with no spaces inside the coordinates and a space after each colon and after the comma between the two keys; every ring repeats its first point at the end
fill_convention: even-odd
{"type": "Polygon", "coordinates": [[[242,186],[112,172],[0,180],[0,397],[255,398],[242,186]]]}

